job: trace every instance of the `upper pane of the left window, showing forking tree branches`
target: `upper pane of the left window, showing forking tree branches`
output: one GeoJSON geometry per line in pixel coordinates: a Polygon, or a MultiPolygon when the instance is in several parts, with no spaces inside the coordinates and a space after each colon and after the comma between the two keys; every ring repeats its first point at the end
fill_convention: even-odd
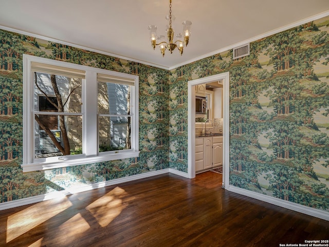
{"type": "Polygon", "coordinates": [[[81,82],[79,78],[34,73],[34,111],[81,113],[81,82]]]}

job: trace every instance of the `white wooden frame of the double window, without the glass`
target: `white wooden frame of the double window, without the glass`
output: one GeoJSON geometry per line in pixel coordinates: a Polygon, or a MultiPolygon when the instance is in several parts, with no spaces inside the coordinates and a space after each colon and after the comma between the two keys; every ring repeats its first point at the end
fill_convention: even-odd
{"type": "MultiPolygon", "coordinates": [[[[138,84],[139,77],[111,70],[73,64],[53,59],[23,55],[23,172],[77,166],[96,162],[121,160],[139,156],[138,145],[138,84]],[[83,154],[50,158],[34,158],[34,80],[32,62],[85,71],[82,79],[82,140],[83,154]],[[131,149],[98,152],[98,87],[97,74],[120,78],[134,83],[131,86],[131,149]],[[94,97],[93,97],[94,96],[94,97]]],[[[72,115],[72,114],[67,114],[72,115]]]]}

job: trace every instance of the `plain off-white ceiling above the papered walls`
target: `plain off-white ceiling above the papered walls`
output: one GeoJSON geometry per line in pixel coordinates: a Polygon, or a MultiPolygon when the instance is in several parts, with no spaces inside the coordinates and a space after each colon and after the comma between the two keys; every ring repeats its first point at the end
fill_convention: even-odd
{"type": "MultiPolygon", "coordinates": [[[[328,0],[172,0],[173,28],[192,21],[184,54],[151,47],[149,25],[166,35],[168,0],[7,0],[0,28],[119,58],[174,68],[329,14],[328,0]]],[[[165,39],[163,39],[165,41],[165,39]]]]}

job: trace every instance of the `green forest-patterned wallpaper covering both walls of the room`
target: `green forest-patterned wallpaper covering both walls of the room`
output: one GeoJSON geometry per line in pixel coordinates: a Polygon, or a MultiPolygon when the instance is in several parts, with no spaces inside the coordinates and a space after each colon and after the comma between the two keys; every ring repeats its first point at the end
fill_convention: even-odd
{"type": "Polygon", "coordinates": [[[230,185],[329,211],[329,16],[166,71],[0,30],[0,202],[187,172],[188,81],[230,73],[230,185]],[[139,75],[139,158],[23,173],[22,54],[139,75]]]}

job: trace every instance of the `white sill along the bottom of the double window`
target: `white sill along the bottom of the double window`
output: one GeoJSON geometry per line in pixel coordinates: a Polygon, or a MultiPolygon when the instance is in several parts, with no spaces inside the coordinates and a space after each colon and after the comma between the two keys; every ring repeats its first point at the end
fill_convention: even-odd
{"type": "Polygon", "coordinates": [[[42,171],[42,170],[78,166],[78,165],[104,162],[104,161],[122,160],[124,158],[133,158],[138,156],[139,156],[139,152],[135,151],[135,152],[126,152],[126,153],[106,154],[106,155],[99,155],[92,157],[88,156],[84,158],[77,158],[75,160],[63,160],[60,162],[29,163],[29,164],[22,164],[21,167],[23,168],[23,172],[42,171]]]}

